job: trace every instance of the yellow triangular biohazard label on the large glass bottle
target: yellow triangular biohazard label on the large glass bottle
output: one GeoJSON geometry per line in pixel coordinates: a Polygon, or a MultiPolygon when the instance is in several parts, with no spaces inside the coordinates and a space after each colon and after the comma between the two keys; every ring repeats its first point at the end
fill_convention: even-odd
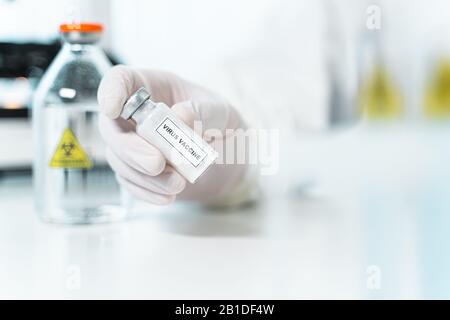
{"type": "Polygon", "coordinates": [[[72,130],[67,128],[59,140],[49,166],[52,168],[89,169],[92,167],[92,162],[72,130]]]}

